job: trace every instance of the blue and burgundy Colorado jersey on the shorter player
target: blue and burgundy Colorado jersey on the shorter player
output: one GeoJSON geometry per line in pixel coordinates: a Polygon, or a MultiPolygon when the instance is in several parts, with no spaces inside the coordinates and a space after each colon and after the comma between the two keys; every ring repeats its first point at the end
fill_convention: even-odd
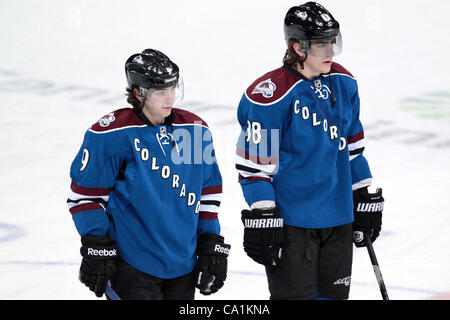
{"type": "Polygon", "coordinates": [[[109,234],[134,268],[160,278],[189,273],[197,237],[220,234],[222,178],[211,132],[172,109],[163,125],[131,108],[92,125],[71,168],[67,201],[80,235],[109,234]]]}

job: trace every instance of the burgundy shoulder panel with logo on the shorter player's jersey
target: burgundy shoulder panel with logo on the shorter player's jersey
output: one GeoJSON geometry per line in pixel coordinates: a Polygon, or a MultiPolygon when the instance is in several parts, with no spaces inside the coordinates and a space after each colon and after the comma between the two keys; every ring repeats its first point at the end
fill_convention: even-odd
{"type": "Polygon", "coordinates": [[[132,108],[123,108],[104,115],[90,127],[90,130],[101,133],[141,125],[145,124],[134,113],[132,108]]]}

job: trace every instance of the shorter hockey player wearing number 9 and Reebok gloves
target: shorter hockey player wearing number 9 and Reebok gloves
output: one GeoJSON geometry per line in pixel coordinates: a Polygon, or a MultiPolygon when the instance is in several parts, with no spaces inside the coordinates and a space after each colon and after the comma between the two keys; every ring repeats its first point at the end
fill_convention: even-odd
{"type": "Polygon", "coordinates": [[[132,108],[93,124],[70,169],[79,279],[98,297],[108,281],[122,299],[215,293],[230,246],[217,218],[222,178],[211,132],[173,107],[182,81],[162,52],[133,54],[125,72],[132,108]]]}

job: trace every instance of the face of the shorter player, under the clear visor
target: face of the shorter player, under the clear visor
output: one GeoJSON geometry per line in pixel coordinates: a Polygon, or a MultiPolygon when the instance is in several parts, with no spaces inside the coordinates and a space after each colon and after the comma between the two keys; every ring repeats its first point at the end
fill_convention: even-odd
{"type": "Polygon", "coordinates": [[[163,89],[150,89],[142,112],[153,123],[160,124],[170,115],[175,103],[175,86],[163,89]]]}

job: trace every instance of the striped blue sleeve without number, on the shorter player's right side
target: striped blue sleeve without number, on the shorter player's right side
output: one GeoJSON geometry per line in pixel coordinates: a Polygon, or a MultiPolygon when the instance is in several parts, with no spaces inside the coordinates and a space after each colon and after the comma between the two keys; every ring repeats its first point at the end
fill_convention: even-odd
{"type": "Polygon", "coordinates": [[[222,176],[217,164],[211,132],[209,129],[206,130],[204,137],[209,136],[209,138],[205,138],[207,145],[203,149],[204,171],[197,236],[205,232],[220,234],[218,213],[222,201],[222,176]]]}

